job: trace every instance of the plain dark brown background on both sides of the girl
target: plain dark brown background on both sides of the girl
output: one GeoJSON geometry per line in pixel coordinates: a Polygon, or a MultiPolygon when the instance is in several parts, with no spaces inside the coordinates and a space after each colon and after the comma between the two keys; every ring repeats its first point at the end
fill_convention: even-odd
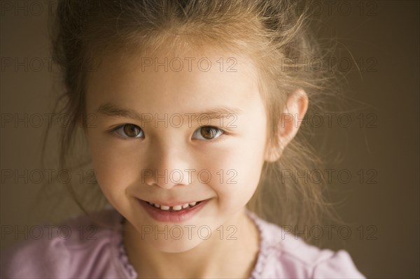
{"type": "MultiPolygon", "coordinates": [[[[352,179],[330,187],[332,197],[343,201],[338,210],[352,235],[328,246],[348,250],[369,278],[419,278],[419,2],[327,2],[316,2],[314,12],[322,12],[325,36],[335,36],[339,48],[348,49],[337,59],[353,100],[346,108],[352,111],[350,127],[333,124],[330,131],[345,134],[331,146],[344,161],[330,167],[348,170],[352,179]],[[351,57],[360,71],[354,61],[346,71],[344,62],[351,57]]],[[[31,215],[41,187],[33,183],[36,177],[15,180],[8,171],[39,169],[46,118],[35,127],[39,118],[33,115],[52,111],[57,89],[47,29],[55,5],[49,3],[1,3],[1,248],[25,236],[6,234],[6,227],[40,222],[31,215]],[[25,114],[28,124],[6,121],[25,114]]]]}

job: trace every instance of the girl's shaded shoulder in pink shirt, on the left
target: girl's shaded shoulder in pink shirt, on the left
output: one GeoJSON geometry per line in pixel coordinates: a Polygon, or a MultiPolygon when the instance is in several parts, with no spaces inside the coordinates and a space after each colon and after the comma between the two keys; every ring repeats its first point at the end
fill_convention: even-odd
{"type": "Polygon", "coordinates": [[[1,253],[1,277],[128,277],[119,261],[120,218],[109,209],[95,213],[92,219],[81,216],[58,226],[36,226],[36,233],[29,234],[31,239],[1,253]]]}

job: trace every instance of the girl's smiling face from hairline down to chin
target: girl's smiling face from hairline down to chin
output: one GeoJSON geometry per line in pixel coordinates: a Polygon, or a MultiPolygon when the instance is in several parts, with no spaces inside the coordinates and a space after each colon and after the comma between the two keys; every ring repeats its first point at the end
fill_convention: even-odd
{"type": "Polygon", "coordinates": [[[87,82],[87,137],[105,196],[161,251],[194,248],[221,225],[232,233],[265,161],[255,67],[211,50],[122,57],[102,57],[87,82]]]}

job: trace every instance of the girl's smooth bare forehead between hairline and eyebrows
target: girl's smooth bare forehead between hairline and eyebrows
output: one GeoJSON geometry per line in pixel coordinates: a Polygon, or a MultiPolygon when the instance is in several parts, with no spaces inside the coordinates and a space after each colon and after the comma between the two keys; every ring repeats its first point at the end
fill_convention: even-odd
{"type": "Polygon", "coordinates": [[[251,59],[232,52],[117,52],[96,60],[87,78],[88,107],[113,102],[170,113],[227,103],[246,107],[260,98],[251,59]]]}

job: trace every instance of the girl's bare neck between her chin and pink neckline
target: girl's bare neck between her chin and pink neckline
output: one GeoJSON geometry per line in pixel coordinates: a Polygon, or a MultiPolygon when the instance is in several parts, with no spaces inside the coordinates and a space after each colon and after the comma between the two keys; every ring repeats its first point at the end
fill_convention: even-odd
{"type": "Polygon", "coordinates": [[[138,278],[248,278],[258,257],[259,233],[244,211],[234,219],[229,224],[235,224],[235,234],[223,224],[223,237],[214,232],[195,248],[172,253],[138,241],[139,232],[126,221],[125,250],[138,278]]]}

